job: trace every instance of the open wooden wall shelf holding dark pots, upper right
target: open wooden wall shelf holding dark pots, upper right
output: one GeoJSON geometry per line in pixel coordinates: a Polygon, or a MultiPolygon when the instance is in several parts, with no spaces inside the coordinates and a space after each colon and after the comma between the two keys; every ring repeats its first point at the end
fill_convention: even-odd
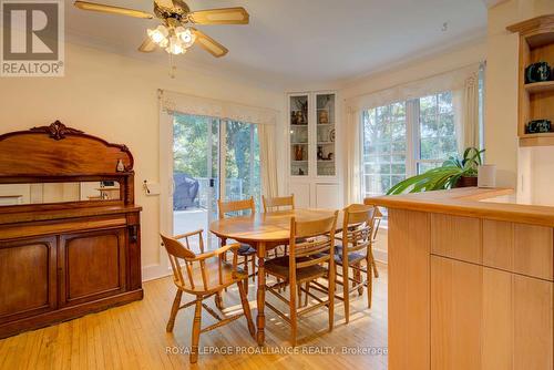
{"type": "Polygon", "coordinates": [[[554,14],[507,30],[520,34],[520,146],[554,145],[554,14]]]}

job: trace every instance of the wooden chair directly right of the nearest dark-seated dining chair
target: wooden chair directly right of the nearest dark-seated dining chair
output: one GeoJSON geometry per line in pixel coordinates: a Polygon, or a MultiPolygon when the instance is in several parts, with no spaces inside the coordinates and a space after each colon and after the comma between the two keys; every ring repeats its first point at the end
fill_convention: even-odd
{"type": "Polygon", "coordinates": [[[376,207],[362,204],[352,204],[345,208],[342,233],[336,247],[337,284],[342,286],[342,295],[337,296],[345,302],[345,320],[350,320],[350,294],[363,292],[368,288],[368,308],[371,308],[372,296],[372,266],[373,254],[371,251],[373,237],[373,222],[376,207]],[[362,263],[366,263],[366,269],[362,263]],[[353,276],[350,277],[350,269],[353,276]],[[362,279],[366,274],[366,280],[362,279]],[[339,279],[340,277],[340,279],[339,279]]]}

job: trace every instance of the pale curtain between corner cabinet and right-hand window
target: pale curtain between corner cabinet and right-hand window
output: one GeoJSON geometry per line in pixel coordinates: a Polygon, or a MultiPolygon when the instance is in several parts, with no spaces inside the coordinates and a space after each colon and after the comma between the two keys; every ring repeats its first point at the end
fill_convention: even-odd
{"type": "Polygon", "coordinates": [[[348,110],[346,124],[347,171],[346,201],[347,204],[361,203],[361,111],[348,110]]]}

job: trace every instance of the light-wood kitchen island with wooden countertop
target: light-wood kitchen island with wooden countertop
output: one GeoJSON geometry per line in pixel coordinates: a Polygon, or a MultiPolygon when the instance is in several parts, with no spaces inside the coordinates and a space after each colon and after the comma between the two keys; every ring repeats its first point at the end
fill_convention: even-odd
{"type": "Polygon", "coordinates": [[[389,212],[389,369],[553,369],[554,207],[505,188],[371,197],[389,212]]]}

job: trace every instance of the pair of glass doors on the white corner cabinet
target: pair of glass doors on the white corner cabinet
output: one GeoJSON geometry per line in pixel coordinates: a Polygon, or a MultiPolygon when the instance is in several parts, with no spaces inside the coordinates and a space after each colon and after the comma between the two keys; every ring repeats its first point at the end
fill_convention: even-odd
{"type": "Polygon", "coordinates": [[[337,176],[336,93],[289,95],[290,176],[337,176]]]}

